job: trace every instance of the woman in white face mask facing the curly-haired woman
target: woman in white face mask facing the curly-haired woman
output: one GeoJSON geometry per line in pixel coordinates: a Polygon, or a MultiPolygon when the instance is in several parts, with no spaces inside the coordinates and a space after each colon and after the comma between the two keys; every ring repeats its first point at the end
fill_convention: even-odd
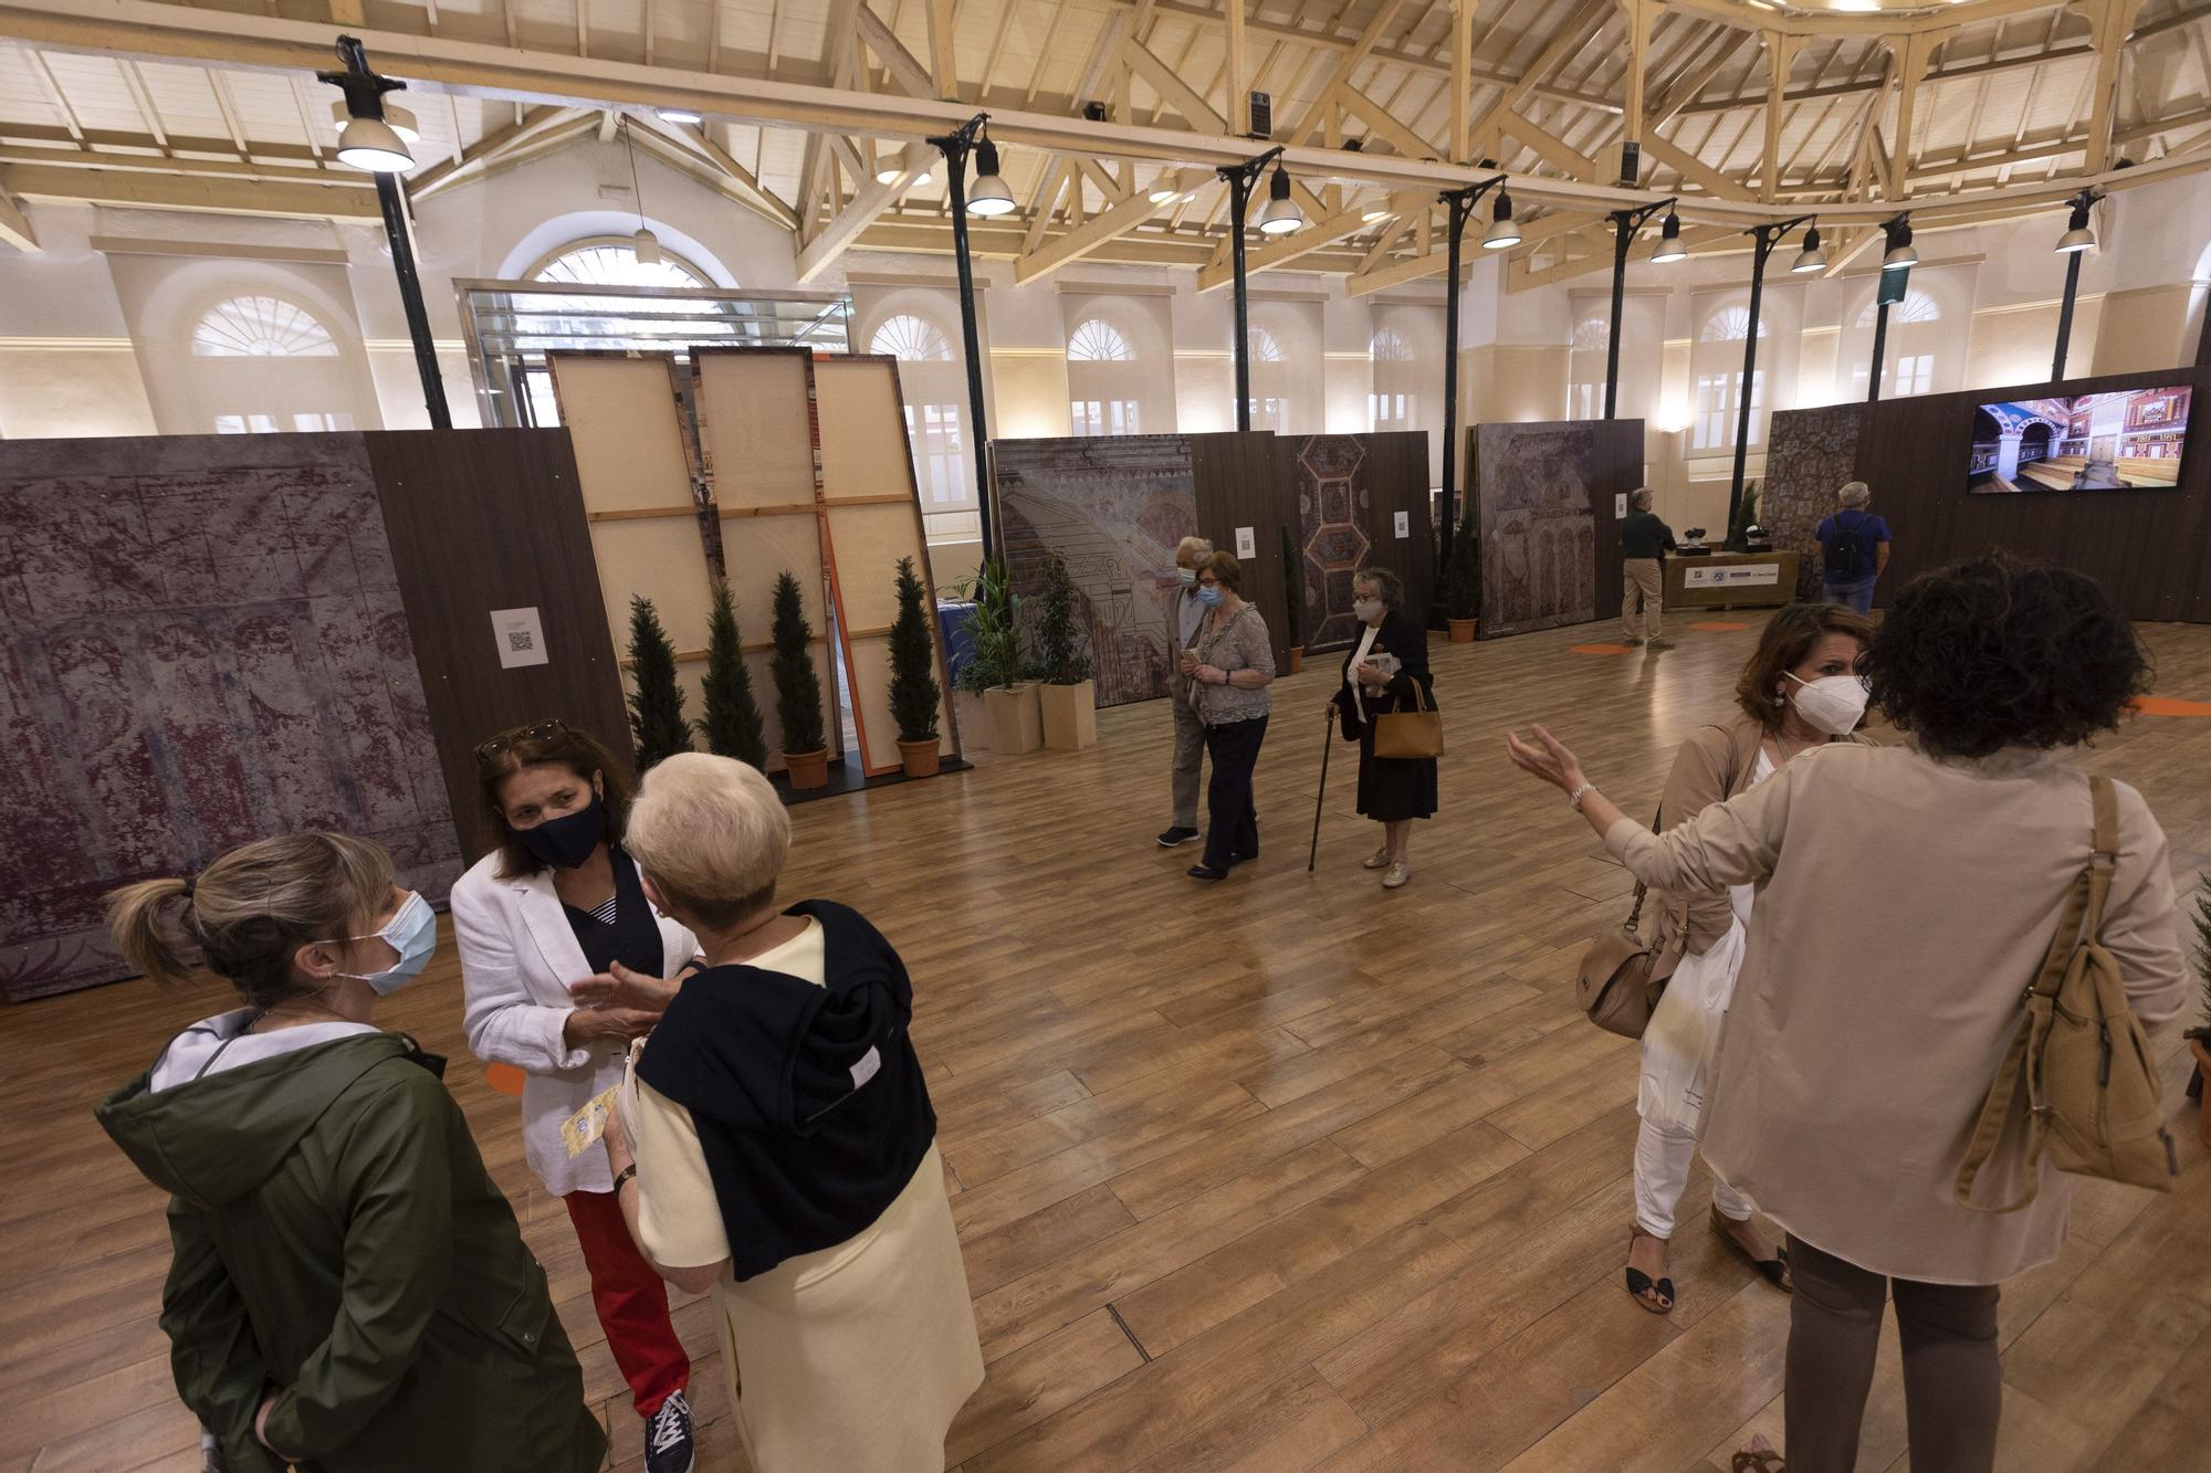
{"type": "MultiPolygon", "coordinates": [[[[1873,624],[1842,604],[1791,604],[1767,621],[1736,679],[1736,710],[1725,723],[1689,732],[1658,801],[1660,829],[1689,823],[1764,783],[1791,759],[1851,732],[1866,714],[1857,677],[1873,624]]],[[[1672,1314],[1667,1276],[1674,1210],[1689,1183],[1689,1161],[1705,1117],[1720,1020],[1736,991],[1749,940],[1751,885],[1649,896],[1658,918],[1652,975],[1667,989],[1643,1033],[1636,1088],[1636,1221],[1627,1239],[1627,1292],[1652,1314],[1672,1314]]],[[[1775,1287],[1789,1289],[1786,1252],[1753,1221],[1756,1203],[1720,1172],[1711,1177],[1711,1230],[1775,1287]]]]}

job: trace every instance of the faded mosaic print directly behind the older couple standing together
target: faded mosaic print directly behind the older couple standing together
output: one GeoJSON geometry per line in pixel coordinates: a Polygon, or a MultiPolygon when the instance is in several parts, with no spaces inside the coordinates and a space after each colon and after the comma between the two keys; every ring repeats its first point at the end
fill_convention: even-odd
{"type": "Polygon", "coordinates": [[[1035,599],[1050,555],[1068,560],[1099,706],[1167,694],[1174,549],[1198,531],[1190,440],[997,440],[991,458],[1015,593],[1035,599]]]}

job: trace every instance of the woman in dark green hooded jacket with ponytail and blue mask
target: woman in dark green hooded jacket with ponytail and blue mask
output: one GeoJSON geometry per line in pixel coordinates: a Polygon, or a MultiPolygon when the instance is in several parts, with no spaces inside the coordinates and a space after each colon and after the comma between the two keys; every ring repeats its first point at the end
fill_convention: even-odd
{"type": "Polygon", "coordinates": [[[590,1473],[606,1435],[440,1075],[369,1024],[438,916],[380,845],[263,838],[197,880],[111,896],[122,953],[186,975],[181,929],[243,1009],[170,1040],[99,1124],[170,1192],[177,1391],[232,1473],[590,1473]]]}

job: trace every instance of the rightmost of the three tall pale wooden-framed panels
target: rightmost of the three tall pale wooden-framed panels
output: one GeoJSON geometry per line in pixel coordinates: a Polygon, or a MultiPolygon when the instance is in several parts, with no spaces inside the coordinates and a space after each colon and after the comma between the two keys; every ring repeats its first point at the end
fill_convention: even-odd
{"type": "MultiPolygon", "coordinates": [[[[820,414],[822,546],[838,608],[845,668],[851,675],[853,721],[869,776],[895,772],[898,723],[891,719],[891,621],[898,617],[898,560],[911,557],[922,579],[924,610],[935,610],[929,542],[898,391],[898,361],[836,356],[814,361],[814,405],[820,414]]],[[[929,619],[931,644],[937,637],[929,619]]],[[[937,688],[951,690],[937,648],[937,688]]],[[[940,752],[957,752],[953,717],[937,703],[940,752]]]]}

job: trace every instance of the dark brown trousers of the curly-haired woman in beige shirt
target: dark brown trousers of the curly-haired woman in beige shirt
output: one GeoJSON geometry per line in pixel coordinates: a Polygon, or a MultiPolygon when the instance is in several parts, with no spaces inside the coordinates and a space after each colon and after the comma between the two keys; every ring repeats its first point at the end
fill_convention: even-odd
{"type": "Polygon", "coordinates": [[[1992,1473],[2003,1362],[1997,1285],[1884,1278],[1789,1239],[1789,1473],[1851,1473],[1882,1303],[1897,1300],[1913,1473],[1992,1473]]]}

